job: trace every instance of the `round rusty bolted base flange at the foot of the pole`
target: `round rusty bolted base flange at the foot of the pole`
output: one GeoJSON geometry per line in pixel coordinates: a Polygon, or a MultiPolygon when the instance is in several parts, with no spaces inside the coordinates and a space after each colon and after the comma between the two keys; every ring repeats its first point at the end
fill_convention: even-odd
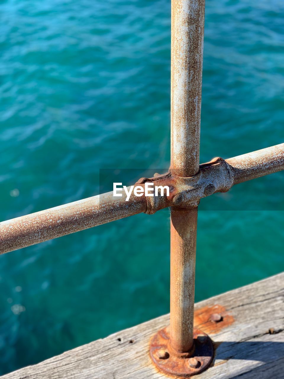
{"type": "Polygon", "coordinates": [[[169,327],[161,329],[150,341],[150,356],[156,367],[173,376],[192,376],[204,371],[213,359],[213,344],[201,330],[193,329],[194,348],[178,353],[170,346],[169,327]]]}

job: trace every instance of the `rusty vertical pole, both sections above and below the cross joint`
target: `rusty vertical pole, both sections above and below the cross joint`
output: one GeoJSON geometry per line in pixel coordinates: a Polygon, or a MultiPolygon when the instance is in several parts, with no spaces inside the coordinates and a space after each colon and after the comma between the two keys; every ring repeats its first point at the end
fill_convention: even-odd
{"type": "MultiPolygon", "coordinates": [[[[204,0],[172,0],[171,171],[199,170],[204,0]]],[[[197,208],[171,210],[170,343],[193,347],[197,208]]]]}

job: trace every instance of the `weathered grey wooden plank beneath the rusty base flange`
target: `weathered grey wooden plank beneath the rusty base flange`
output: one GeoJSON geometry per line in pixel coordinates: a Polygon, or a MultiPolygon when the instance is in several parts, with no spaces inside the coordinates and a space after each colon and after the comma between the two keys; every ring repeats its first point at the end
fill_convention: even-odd
{"type": "MultiPolygon", "coordinates": [[[[284,378],[283,284],[284,273],[196,304],[195,324],[215,345],[214,362],[198,378],[284,378]],[[212,312],[221,312],[223,321],[208,321],[212,312]]],[[[167,324],[169,315],[161,316],[2,378],[169,378],[148,353],[151,335],[167,324]]]]}

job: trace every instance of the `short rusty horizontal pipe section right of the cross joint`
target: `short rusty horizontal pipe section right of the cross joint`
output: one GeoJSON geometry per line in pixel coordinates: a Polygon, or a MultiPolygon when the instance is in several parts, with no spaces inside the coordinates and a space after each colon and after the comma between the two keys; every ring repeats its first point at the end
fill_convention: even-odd
{"type": "Polygon", "coordinates": [[[226,159],[234,184],[284,170],[284,143],[226,159]]]}

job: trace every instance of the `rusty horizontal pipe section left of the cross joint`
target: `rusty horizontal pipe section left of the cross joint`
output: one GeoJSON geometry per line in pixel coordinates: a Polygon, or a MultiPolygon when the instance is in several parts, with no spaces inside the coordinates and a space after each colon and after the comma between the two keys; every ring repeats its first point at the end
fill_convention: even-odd
{"type": "Polygon", "coordinates": [[[0,254],[106,224],[147,210],[145,196],[114,198],[112,192],[0,223],[0,254]],[[119,199],[119,200],[117,200],[119,199]]]}

